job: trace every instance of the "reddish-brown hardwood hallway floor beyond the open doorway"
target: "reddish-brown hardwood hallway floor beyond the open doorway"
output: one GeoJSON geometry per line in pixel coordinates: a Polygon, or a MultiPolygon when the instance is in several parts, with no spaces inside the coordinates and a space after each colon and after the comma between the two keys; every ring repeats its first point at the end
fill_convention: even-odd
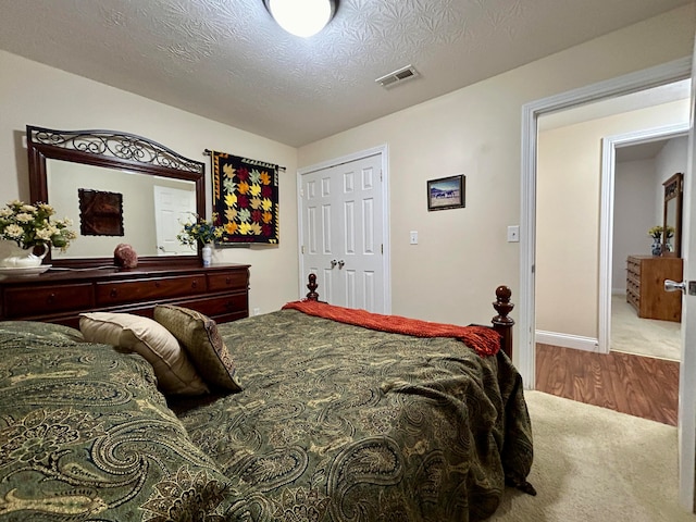
{"type": "Polygon", "coordinates": [[[679,362],[537,344],[536,389],[675,426],[679,362]]]}

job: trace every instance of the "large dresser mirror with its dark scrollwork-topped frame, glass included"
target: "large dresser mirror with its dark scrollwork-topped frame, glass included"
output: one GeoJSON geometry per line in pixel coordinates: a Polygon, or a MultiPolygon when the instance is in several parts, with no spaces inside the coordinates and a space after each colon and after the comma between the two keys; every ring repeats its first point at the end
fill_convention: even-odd
{"type": "Polygon", "coordinates": [[[111,130],[27,126],[32,201],[73,220],[78,238],[50,262],[64,268],[113,264],[132,245],[139,265],[198,263],[176,234],[189,213],[204,215],[204,165],[140,136],[111,130]]]}

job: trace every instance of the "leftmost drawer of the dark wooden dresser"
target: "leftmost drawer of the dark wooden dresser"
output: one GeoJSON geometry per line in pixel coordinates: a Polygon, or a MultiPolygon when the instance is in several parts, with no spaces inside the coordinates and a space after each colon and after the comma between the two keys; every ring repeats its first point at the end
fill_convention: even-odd
{"type": "Polygon", "coordinates": [[[90,283],[7,288],[4,290],[4,315],[7,318],[45,315],[65,310],[90,309],[94,304],[90,283]]]}

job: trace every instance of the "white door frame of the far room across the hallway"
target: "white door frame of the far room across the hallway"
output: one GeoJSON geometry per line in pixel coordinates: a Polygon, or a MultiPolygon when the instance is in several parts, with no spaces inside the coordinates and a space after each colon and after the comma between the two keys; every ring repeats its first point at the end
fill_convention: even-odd
{"type": "Polygon", "coordinates": [[[611,344],[611,276],[613,265],[613,204],[617,147],[688,136],[688,122],[607,136],[601,140],[601,206],[599,214],[599,332],[598,352],[611,344]]]}

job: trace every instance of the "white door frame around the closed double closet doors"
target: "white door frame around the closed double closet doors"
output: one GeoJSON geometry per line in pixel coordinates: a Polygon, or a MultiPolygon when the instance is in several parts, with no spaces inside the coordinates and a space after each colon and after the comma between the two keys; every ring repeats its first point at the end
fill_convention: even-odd
{"type": "MultiPolygon", "coordinates": [[[[350,154],[341,156],[339,158],[334,158],[327,161],[323,161],[321,163],[315,163],[310,166],[304,166],[302,169],[298,169],[297,171],[297,226],[298,226],[298,266],[299,266],[299,296],[303,298],[307,294],[307,276],[304,273],[304,257],[302,254],[302,246],[304,244],[304,228],[303,216],[302,216],[302,176],[306,174],[310,174],[312,172],[321,171],[324,169],[330,169],[332,166],[338,166],[344,163],[349,163],[351,161],[362,160],[369,158],[371,156],[380,156],[381,163],[381,177],[382,177],[382,271],[383,271],[383,281],[384,286],[382,288],[383,299],[384,299],[384,313],[391,313],[391,262],[390,262],[390,251],[391,251],[391,241],[389,238],[389,170],[388,170],[388,147],[387,145],[381,145],[377,147],[373,147],[371,149],[360,150],[358,152],[353,152],[350,154]]],[[[318,290],[321,296],[321,288],[318,290]]]]}

